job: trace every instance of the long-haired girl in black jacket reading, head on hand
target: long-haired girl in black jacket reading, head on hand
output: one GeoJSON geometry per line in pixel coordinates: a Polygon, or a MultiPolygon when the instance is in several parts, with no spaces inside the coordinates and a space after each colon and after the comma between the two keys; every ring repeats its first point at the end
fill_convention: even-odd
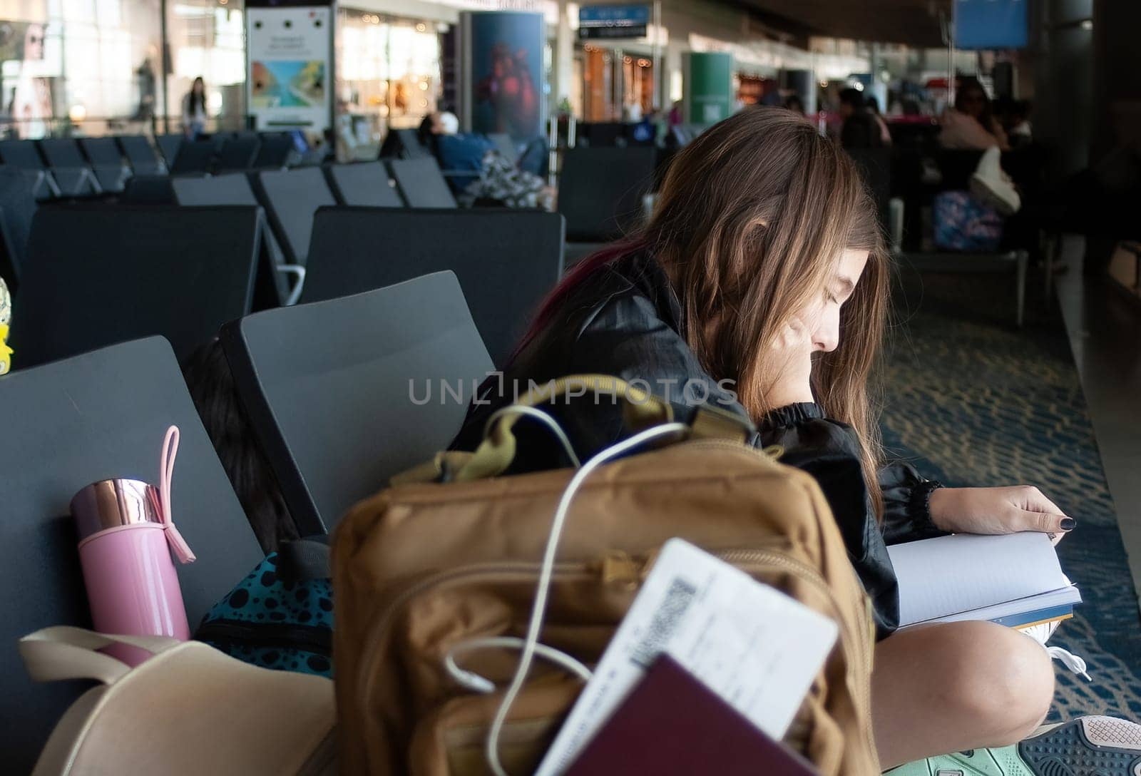
{"type": "MultiPolygon", "coordinates": [[[[472,406],[455,446],[475,448],[512,386],[574,373],[648,383],[681,418],[698,401],[747,415],[759,428],[754,444],[782,445],[783,462],[816,477],[872,597],[883,767],[963,750],[989,758],[982,747],[1014,744],[1042,722],[1053,695],[1050,658],[1029,637],[988,622],[896,632],[885,548],[946,532],[1061,535],[1074,520],[1033,487],[944,488],[908,466],[884,464],[868,380],[888,274],[875,207],[851,160],[802,118],[748,108],[679,153],[648,225],[551,293],[503,380],[485,383],[486,404],[472,406]]],[[[582,460],[622,436],[609,402],[543,409],[582,460]]],[[[545,429],[516,428],[526,461],[516,470],[568,464],[545,429]]],[[[1070,742],[1067,757],[1097,745],[1058,737],[1070,742]]],[[[974,771],[949,762],[948,773],[1039,773],[1033,763],[974,771]]]]}

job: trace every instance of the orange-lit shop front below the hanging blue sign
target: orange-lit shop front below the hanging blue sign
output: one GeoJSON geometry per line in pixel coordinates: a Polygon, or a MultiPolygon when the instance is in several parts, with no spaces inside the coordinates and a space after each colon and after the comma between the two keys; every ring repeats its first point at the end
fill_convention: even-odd
{"type": "Polygon", "coordinates": [[[586,43],[574,78],[572,108],[583,121],[636,121],[654,108],[654,60],[637,50],[586,43]]]}

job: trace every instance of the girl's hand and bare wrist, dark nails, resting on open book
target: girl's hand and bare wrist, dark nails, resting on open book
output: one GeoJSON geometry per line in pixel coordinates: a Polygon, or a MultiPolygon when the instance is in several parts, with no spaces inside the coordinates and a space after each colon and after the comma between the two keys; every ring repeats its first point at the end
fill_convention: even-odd
{"type": "Polygon", "coordinates": [[[1006,534],[1039,531],[1057,544],[1074,530],[1050,499],[1029,485],[1012,487],[940,487],[931,492],[931,522],[952,533],[1006,534]]]}

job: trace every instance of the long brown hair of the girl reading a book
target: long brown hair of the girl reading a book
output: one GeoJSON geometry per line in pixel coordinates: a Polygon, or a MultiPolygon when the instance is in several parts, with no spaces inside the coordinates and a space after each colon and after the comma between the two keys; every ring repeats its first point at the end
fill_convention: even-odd
{"type": "Polygon", "coordinates": [[[736,380],[754,419],[780,364],[770,343],[825,292],[845,249],[868,251],[840,317],[840,345],[818,354],[812,390],[860,440],[865,480],[882,512],[882,458],[869,378],[888,308],[888,259],[876,209],[851,157],[803,118],[753,107],[711,127],[670,164],[649,223],[586,259],[548,298],[533,332],[586,276],[636,251],[665,270],[681,304],[686,342],[715,380],[736,380]]]}

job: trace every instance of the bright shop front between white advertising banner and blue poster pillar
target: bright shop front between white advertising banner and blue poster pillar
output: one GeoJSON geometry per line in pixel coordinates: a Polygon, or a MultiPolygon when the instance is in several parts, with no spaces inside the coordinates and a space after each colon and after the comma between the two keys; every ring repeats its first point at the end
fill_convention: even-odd
{"type": "Polygon", "coordinates": [[[440,95],[440,34],[446,25],[341,8],[338,11],[337,113],[358,147],[389,128],[418,127],[440,95]]]}

